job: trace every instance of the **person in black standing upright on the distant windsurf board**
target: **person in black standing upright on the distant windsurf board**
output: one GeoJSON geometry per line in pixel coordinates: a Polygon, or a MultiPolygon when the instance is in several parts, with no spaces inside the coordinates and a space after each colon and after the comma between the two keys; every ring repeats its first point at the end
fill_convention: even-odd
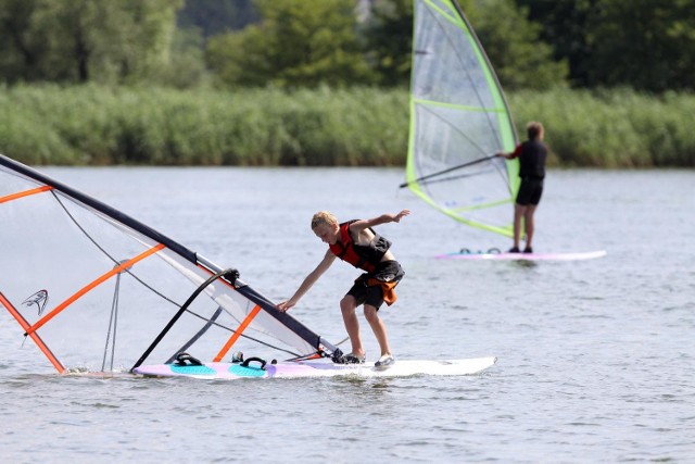
{"type": "Polygon", "coordinates": [[[545,178],[545,160],[547,146],[543,142],[545,129],[541,123],[531,122],[526,126],[528,140],[520,143],[511,153],[497,153],[497,156],[514,160],[519,158],[519,177],[521,186],[514,205],[514,247],[510,253],[519,252],[519,237],[521,235],[521,218],[526,231],[525,253],[533,253],[533,213],[543,195],[543,179],[545,178]]]}

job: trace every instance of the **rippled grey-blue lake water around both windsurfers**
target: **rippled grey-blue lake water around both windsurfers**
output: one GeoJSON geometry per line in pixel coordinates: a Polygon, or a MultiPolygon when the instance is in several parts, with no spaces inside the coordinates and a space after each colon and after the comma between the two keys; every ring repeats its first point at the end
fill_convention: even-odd
{"type": "MultiPolygon", "coordinates": [[[[498,362],[443,378],[65,377],[21,349],[3,311],[3,462],[695,462],[695,171],[552,171],[535,250],[608,254],[535,264],[433,259],[510,240],[399,190],[401,170],[43,171],[239,268],[274,301],[325,252],[313,213],[408,208],[379,227],[406,272],[380,313],[396,359],[498,362]]],[[[337,262],[293,315],[343,339],[338,301],[355,276],[337,262]]]]}

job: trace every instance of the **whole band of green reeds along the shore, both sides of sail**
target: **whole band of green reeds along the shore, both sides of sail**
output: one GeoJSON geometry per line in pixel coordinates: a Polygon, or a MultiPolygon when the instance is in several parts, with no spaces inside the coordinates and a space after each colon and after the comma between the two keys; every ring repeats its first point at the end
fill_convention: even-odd
{"type": "MultiPolygon", "coordinates": [[[[403,165],[407,91],[326,87],[0,89],[0,152],[30,164],[403,165]]],[[[509,95],[542,121],[554,166],[695,166],[695,96],[558,89],[509,95]]]]}

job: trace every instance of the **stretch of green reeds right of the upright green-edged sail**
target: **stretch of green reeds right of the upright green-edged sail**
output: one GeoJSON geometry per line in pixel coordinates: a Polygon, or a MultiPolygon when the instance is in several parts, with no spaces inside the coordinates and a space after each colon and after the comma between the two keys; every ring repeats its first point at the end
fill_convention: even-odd
{"type": "Polygon", "coordinates": [[[542,121],[559,166],[695,166],[695,96],[628,89],[517,92],[509,97],[519,136],[542,121]]]}

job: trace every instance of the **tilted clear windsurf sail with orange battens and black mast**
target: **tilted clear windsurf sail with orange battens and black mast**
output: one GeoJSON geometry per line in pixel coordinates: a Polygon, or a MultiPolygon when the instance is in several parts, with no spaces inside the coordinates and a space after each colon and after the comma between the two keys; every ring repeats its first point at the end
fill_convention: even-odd
{"type": "Polygon", "coordinates": [[[338,352],[235,269],[3,155],[0,224],[0,305],[60,373],[130,371],[182,351],[210,362],[232,348],[338,352]]]}

